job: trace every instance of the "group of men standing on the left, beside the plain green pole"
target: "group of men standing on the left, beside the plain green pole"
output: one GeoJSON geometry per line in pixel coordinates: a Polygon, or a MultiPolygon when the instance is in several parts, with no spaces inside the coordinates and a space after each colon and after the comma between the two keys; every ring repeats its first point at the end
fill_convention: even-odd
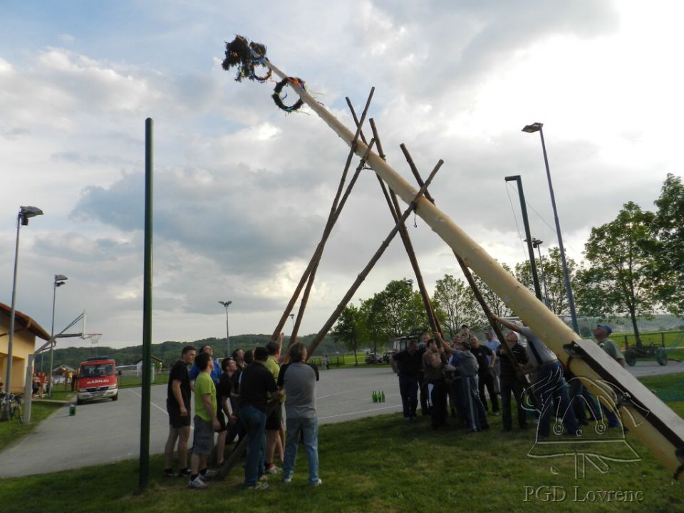
{"type": "Polygon", "coordinates": [[[165,476],[188,477],[188,487],[202,489],[218,475],[209,468],[216,452],[216,465],[224,463],[228,442],[247,437],[244,487],[264,489],[267,477],[281,471],[274,464],[279,453],[282,481],[294,474],[301,442],[309,462],[309,484],[322,483],[318,477],[318,420],[315,387],[318,369],[307,363],[306,346],[295,342],[281,358],[284,334],[249,351],[236,349],[230,358],[214,361],[212,347],[182,349],[172,367],[167,388],[169,437],[165,447],[165,476]],[[282,361],[281,361],[282,360],[282,361]],[[190,411],[195,396],[192,455],[188,466],[190,411]],[[285,408],[285,423],[283,422],[285,408]],[[215,442],[215,443],[214,443],[215,442]],[[173,470],[177,447],[180,472],[173,470]]]}

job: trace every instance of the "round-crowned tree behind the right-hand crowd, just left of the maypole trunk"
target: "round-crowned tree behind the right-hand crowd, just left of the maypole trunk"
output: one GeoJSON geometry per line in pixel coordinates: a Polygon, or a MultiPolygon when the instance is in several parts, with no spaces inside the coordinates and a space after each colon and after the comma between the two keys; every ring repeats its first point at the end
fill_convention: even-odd
{"type": "Polygon", "coordinates": [[[462,324],[482,324],[484,314],[475,294],[465,281],[451,274],[445,274],[444,278],[437,280],[433,302],[437,316],[445,320],[450,338],[460,330],[462,324]]]}

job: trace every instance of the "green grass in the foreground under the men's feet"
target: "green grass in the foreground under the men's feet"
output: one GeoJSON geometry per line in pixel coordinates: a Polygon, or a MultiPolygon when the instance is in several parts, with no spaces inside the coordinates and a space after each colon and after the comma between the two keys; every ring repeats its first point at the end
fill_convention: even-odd
{"type": "MultiPolygon", "coordinates": [[[[656,392],[668,390],[684,386],[684,374],[643,382],[656,392]]],[[[684,402],[670,406],[684,415],[684,402]]],[[[603,474],[587,465],[585,478],[575,479],[572,457],[527,456],[534,445],[533,430],[504,433],[499,417],[492,417],[491,423],[492,429],[485,432],[433,432],[423,418],[405,423],[393,414],[323,425],[319,435],[323,485],[316,489],[306,485],[306,458],[301,452],[293,482],[271,479],[271,486],[263,491],[243,490],[242,467],[237,466],[223,482],[195,492],[187,489],[186,480],[161,477],[162,458],[157,456],[151,459],[150,486],[145,492],[136,491],[138,463],[128,460],[0,480],[0,509],[8,513],[29,509],[70,513],[684,511],[683,484],[674,482],[631,435],[626,442],[642,460],[609,462],[603,474]],[[553,502],[551,492],[563,499],[553,502]],[[606,497],[613,498],[606,502],[606,497]]]]}

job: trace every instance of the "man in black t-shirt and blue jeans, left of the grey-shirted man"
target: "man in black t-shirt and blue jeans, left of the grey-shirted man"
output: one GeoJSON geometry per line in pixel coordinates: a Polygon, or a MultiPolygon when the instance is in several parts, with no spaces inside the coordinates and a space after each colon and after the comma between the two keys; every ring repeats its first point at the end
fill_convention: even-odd
{"type": "MultiPolygon", "coordinates": [[[[244,487],[264,489],[267,482],[259,481],[264,474],[266,448],[266,405],[269,393],[282,396],[276,380],[266,366],[269,353],[266,348],[254,349],[254,363],[244,368],[240,383],[239,418],[247,431],[247,462],[244,465],[244,487]]],[[[280,408],[280,403],[276,406],[280,408]]]]}

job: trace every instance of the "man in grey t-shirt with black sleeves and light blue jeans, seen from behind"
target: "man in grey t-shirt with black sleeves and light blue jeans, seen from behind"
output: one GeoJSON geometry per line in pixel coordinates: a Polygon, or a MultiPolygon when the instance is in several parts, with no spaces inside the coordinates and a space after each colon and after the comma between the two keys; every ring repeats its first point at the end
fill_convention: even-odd
{"type": "Polygon", "coordinates": [[[318,368],[306,363],[306,346],[294,343],[289,351],[290,363],[282,366],[278,386],[285,391],[285,414],[287,417],[287,440],[283,462],[283,482],[289,483],[294,472],[299,440],[304,443],[309,460],[309,484],[318,486],[318,419],[314,390],[318,381],[318,368]]]}

